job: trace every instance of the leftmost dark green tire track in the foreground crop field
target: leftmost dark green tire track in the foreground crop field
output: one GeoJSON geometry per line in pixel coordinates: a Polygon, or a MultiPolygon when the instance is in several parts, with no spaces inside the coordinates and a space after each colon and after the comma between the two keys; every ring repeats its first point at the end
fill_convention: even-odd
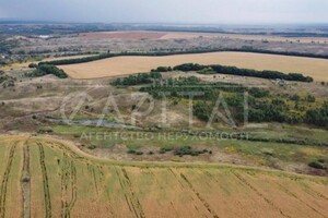
{"type": "Polygon", "coordinates": [[[2,182],[1,182],[1,189],[0,189],[0,217],[4,217],[4,214],[5,214],[5,197],[7,197],[8,180],[9,180],[9,175],[10,175],[10,172],[11,172],[16,145],[17,145],[17,143],[14,144],[13,146],[11,146],[11,148],[10,148],[5,171],[4,171],[4,174],[3,174],[2,182]]]}

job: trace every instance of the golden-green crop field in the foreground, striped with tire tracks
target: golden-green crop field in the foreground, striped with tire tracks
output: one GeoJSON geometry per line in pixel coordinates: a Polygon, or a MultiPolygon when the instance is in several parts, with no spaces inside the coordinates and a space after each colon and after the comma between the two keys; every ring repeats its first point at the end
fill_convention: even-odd
{"type": "Polygon", "coordinates": [[[28,211],[32,217],[326,217],[328,213],[327,178],[229,165],[113,162],[43,137],[1,136],[0,142],[1,217],[28,211]],[[28,179],[20,175],[26,158],[28,179]],[[24,182],[30,198],[22,194],[24,182]]]}

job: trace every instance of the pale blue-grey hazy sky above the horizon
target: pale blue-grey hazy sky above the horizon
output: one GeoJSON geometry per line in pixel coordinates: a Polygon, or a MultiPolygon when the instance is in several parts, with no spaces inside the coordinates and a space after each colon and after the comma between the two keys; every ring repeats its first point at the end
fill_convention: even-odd
{"type": "Polygon", "coordinates": [[[328,23],[328,0],[0,0],[0,19],[83,23],[328,23]]]}

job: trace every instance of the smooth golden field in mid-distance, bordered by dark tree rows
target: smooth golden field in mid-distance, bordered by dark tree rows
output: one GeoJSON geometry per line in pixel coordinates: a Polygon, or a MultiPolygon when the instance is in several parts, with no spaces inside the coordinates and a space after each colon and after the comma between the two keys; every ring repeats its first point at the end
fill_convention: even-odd
{"type": "Polygon", "coordinates": [[[61,65],[73,78],[96,78],[150,72],[160,65],[174,66],[183,63],[222,64],[255,70],[297,72],[313,76],[316,81],[328,81],[328,60],[259,55],[248,52],[211,52],[166,57],[117,57],[89,63],[61,65]]]}

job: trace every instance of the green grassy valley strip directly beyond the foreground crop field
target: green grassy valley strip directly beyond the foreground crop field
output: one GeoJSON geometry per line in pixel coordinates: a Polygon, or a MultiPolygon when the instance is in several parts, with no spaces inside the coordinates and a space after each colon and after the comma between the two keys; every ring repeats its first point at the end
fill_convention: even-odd
{"type": "MultiPolygon", "coordinates": [[[[327,134],[320,130],[296,129],[285,126],[282,130],[246,130],[249,137],[268,138],[273,142],[251,142],[248,140],[227,140],[220,137],[202,138],[191,135],[179,135],[178,132],[124,132],[117,134],[104,128],[55,125],[56,135],[77,141],[84,148],[99,157],[117,160],[155,160],[155,161],[180,161],[180,162],[227,162],[250,166],[265,166],[274,169],[317,174],[307,165],[312,160],[324,159],[328,162],[328,149],[325,146],[314,146],[312,142],[323,143],[327,141],[327,134]],[[290,133],[286,133],[290,132],[290,133]],[[169,137],[169,135],[177,135],[169,137]],[[130,136],[128,136],[130,135],[130,136]],[[139,135],[139,136],[138,136],[139,135]],[[141,135],[141,136],[140,136],[141,135]],[[143,137],[142,135],[148,135],[143,137]],[[307,136],[312,135],[312,136],[307,136]],[[152,137],[152,140],[149,140],[152,137]],[[308,138],[307,145],[278,143],[274,140],[308,138]],[[175,149],[191,146],[195,149],[211,149],[212,155],[198,157],[178,157],[172,153],[159,154],[161,148],[175,149]],[[128,155],[129,149],[143,152],[144,155],[128,155]],[[152,152],[153,155],[148,155],[152,152]]],[[[223,131],[224,132],[224,131],[223,131]]],[[[229,132],[229,131],[227,131],[229,132]]],[[[323,172],[324,173],[324,172],[323,172]]]]}

